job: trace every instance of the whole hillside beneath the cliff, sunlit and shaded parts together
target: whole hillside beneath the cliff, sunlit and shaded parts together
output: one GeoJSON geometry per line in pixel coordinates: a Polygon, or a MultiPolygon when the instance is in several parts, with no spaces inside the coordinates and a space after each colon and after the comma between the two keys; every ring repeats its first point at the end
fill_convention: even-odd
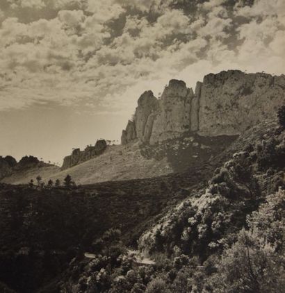
{"type": "Polygon", "coordinates": [[[13,171],[1,182],[26,184],[31,179],[35,181],[38,175],[45,183],[49,179],[63,182],[65,176],[70,174],[77,185],[84,185],[163,176],[199,166],[220,153],[235,139],[236,136],[211,138],[185,133],[177,139],[155,146],[142,145],[138,141],[127,145],[113,145],[108,146],[100,156],[68,169],[62,170],[51,165],[36,166],[13,171]]]}

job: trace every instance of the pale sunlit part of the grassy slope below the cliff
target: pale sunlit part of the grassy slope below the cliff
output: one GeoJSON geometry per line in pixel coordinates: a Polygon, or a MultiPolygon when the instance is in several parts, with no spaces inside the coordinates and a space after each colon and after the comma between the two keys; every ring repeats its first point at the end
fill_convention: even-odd
{"type": "Polygon", "coordinates": [[[40,175],[43,181],[50,178],[63,181],[67,174],[77,184],[91,184],[102,181],[127,180],[170,174],[172,168],[167,160],[148,160],[140,155],[137,144],[128,146],[111,146],[97,158],[83,162],[70,169],[60,171],[59,167],[42,167],[29,171],[18,171],[12,176],[3,178],[3,183],[26,184],[31,178],[40,175]]]}

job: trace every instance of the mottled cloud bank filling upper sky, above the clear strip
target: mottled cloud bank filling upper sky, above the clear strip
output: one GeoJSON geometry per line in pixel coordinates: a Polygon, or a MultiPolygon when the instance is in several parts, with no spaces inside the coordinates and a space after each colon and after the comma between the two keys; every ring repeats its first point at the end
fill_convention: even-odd
{"type": "Polygon", "coordinates": [[[284,1],[232,10],[225,2],[204,1],[191,13],[170,0],[11,0],[17,13],[54,16],[21,22],[3,11],[0,108],[56,101],[128,112],[141,92],[161,92],[170,78],[193,86],[222,69],[282,73],[284,1]]]}

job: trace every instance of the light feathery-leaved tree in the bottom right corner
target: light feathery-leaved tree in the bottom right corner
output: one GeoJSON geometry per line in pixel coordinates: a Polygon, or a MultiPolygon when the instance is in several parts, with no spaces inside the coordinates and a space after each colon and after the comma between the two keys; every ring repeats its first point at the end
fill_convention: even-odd
{"type": "Polygon", "coordinates": [[[249,231],[222,255],[213,292],[284,292],[285,192],[267,197],[257,212],[247,217],[249,231]]]}

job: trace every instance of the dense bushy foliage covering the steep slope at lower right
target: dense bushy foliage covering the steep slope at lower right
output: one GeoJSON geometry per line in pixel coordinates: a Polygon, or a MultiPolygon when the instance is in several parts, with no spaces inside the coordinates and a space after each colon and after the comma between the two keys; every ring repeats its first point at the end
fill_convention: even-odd
{"type": "Polygon", "coordinates": [[[120,238],[107,241],[113,253],[93,247],[92,260],[70,265],[76,274],[61,292],[283,292],[284,131],[259,138],[142,234],[140,256],[154,264],[138,262],[120,238]]]}

